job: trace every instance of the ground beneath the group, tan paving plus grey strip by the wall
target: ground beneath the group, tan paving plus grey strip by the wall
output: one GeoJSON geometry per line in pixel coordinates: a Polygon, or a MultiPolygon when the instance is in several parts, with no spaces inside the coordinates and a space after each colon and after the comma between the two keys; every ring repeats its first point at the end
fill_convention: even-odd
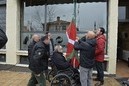
{"type": "MultiPolygon", "coordinates": [[[[0,64],[0,86],[27,86],[30,75],[31,73],[28,68],[0,64]]],[[[50,86],[48,81],[47,86],[50,86]]],[[[114,78],[106,77],[104,86],[121,85],[114,78]]]]}

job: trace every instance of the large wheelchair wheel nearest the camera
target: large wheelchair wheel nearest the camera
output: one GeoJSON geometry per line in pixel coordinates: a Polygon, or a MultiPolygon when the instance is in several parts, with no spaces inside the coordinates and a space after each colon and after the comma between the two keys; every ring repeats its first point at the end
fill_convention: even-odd
{"type": "Polygon", "coordinates": [[[69,76],[58,74],[51,81],[51,86],[72,86],[69,76]]]}

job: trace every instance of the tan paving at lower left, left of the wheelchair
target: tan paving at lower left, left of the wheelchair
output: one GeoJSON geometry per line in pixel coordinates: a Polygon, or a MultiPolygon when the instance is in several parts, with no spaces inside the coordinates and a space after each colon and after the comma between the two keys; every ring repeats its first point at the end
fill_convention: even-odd
{"type": "MultiPolygon", "coordinates": [[[[27,72],[0,71],[0,86],[27,86],[30,75],[27,72]]],[[[48,82],[47,86],[50,86],[48,82]]]]}

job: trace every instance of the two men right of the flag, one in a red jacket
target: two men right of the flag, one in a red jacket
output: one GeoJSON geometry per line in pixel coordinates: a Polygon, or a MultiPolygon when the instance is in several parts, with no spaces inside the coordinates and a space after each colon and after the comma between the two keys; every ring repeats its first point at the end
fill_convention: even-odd
{"type": "Polygon", "coordinates": [[[99,81],[97,86],[104,84],[104,51],[106,37],[104,28],[100,27],[96,33],[88,31],[82,39],[76,40],[74,47],[80,50],[80,82],[81,86],[92,86],[92,71],[96,67],[97,77],[95,81],[99,81]]]}

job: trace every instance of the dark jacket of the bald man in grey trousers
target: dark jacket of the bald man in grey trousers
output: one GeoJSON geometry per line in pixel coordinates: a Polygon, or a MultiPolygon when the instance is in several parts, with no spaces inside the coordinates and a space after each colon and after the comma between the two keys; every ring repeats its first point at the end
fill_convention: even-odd
{"type": "Polygon", "coordinates": [[[84,68],[93,68],[95,64],[95,39],[86,39],[75,42],[74,47],[80,50],[80,66],[84,68]]]}

